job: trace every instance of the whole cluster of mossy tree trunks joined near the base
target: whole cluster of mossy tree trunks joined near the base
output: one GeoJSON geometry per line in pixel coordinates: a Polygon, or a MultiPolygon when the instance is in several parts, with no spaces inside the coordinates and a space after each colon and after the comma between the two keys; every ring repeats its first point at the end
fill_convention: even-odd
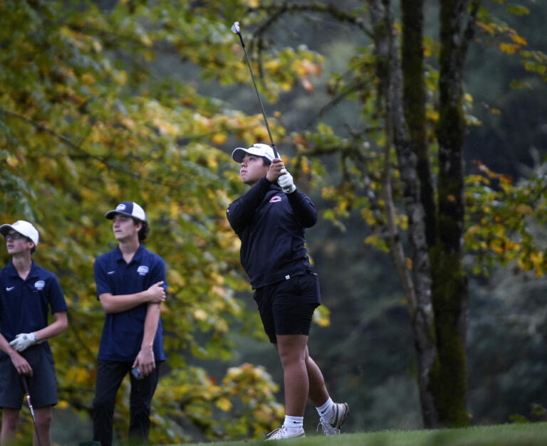
{"type": "MultiPolygon", "coordinates": [[[[426,138],[423,0],[401,0],[401,60],[390,0],[368,0],[368,4],[377,48],[379,96],[385,98],[386,139],[395,145],[409,224],[410,277],[401,267],[404,253],[394,225],[389,228],[390,248],[409,302],[422,417],[427,428],[463,426],[469,424],[469,418],[465,353],[467,276],[462,262],[462,78],[474,14],[467,14],[469,0],[441,1],[436,205],[426,138]],[[466,27],[464,21],[468,17],[466,27]]],[[[393,203],[387,184],[385,190],[389,223],[393,203]]]]}

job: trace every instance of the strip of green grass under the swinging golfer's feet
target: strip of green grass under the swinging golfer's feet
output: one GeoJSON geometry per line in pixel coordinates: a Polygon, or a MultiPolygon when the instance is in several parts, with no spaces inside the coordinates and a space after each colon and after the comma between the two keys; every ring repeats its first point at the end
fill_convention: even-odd
{"type": "MultiPolygon", "coordinates": [[[[477,426],[439,430],[389,430],[323,437],[315,432],[306,438],[281,440],[287,446],[545,446],[547,423],[477,426]]],[[[264,445],[264,440],[192,443],[208,446],[264,445]]]]}

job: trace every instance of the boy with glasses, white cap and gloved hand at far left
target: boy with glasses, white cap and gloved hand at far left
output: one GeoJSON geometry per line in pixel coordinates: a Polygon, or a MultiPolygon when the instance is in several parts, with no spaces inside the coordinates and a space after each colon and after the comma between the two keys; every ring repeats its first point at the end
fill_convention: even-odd
{"type": "MultiPolygon", "coordinates": [[[[33,262],[38,230],[28,221],[0,226],[11,262],[0,270],[0,407],[2,445],[17,443],[24,398],[21,377],[28,381],[36,430],[42,446],[51,445],[51,408],[57,404],[57,379],[47,339],[68,327],[65,297],[53,272],[33,262]],[[53,321],[48,324],[48,309],[53,321]]],[[[36,444],[36,435],[34,444],[36,444]]]]}

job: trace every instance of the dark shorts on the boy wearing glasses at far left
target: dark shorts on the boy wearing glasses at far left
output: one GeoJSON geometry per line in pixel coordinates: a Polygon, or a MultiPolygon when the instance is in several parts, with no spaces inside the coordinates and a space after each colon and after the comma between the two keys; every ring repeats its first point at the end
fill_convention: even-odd
{"type": "MultiPolygon", "coordinates": [[[[27,376],[28,393],[33,408],[57,404],[57,378],[53,355],[47,342],[28,347],[21,352],[31,365],[33,376],[27,376]]],[[[17,373],[9,356],[0,351],[0,408],[21,409],[24,399],[21,375],[17,373]]]]}

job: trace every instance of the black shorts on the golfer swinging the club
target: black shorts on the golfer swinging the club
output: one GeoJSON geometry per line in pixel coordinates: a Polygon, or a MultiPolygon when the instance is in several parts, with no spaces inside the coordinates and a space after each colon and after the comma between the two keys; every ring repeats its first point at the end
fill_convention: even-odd
{"type": "Polygon", "coordinates": [[[314,272],[291,276],[254,292],[264,331],[272,344],[277,334],[310,334],[313,311],[321,305],[319,280],[314,272]]]}

